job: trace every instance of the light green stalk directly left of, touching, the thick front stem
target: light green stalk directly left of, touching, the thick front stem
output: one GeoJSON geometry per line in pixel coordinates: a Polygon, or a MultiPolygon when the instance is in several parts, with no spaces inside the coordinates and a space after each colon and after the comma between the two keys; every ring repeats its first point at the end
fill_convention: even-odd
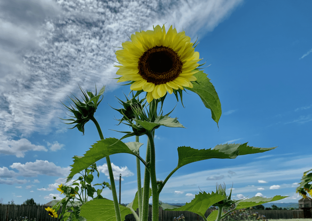
{"type": "MultiPolygon", "coordinates": [[[[150,143],[149,139],[147,140],[146,147],[146,159],[145,162],[150,164],[150,143]]],[[[149,170],[145,167],[144,170],[144,184],[143,184],[143,200],[142,200],[142,211],[140,214],[140,221],[146,221],[149,218],[149,183],[150,183],[150,173],[149,170]]]]}

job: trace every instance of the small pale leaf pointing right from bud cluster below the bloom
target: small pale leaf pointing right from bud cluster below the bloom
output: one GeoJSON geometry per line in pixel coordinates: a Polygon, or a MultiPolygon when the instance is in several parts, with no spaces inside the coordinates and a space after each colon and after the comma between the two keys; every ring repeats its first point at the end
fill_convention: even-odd
{"type": "MultiPolygon", "coordinates": [[[[144,127],[146,130],[153,130],[154,127],[158,125],[166,126],[166,127],[183,127],[182,124],[179,123],[177,120],[178,118],[171,118],[168,116],[160,115],[156,118],[154,122],[142,121],[142,120],[135,120],[139,125],[144,127]]],[[[183,127],[185,128],[185,127],[183,127]]]]}

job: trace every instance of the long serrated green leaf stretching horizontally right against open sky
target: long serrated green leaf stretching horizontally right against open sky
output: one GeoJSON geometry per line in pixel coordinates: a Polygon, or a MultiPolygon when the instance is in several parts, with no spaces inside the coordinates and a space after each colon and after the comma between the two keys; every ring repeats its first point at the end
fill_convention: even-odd
{"type": "Polygon", "coordinates": [[[248,146],[247,143],[217,145],[212,150],[211,148],[208,150],[197,150],[186,146],[178,147],[179,160],[177,168],[200,160],[207,160],[211,158],[235,159],[238,155],[262,153],[276,148],[252,147],[248,146]]]}

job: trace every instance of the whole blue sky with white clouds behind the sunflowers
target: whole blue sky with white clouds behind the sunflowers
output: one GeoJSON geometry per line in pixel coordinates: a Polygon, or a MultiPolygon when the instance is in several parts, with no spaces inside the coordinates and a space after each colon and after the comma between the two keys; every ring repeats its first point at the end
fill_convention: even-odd
{"type": "MultiPolygon", "coordinates": [[[[185,128],[160,127],[155,133],[156,176],[164,180],[177,166],[178,146],[214,148],[246,143],[275,150],[236,159],[211,159],[178,169],[159,199],[190,202],[199,191],[216,191],[216,183],[232,187],[232,199],[289,196],[278,203],[301,199],[295,189],[311,169],[312,15],[310,1],[2,1],[0,7],[0,199],[45,204],[70,173],[74,155],[82,156],[100,140],[95,125],[85,136],[57,117],[69,119],[68,96],[82,95],[78,84],[95,93],[106,85],[95,112],[104,137],[120,138],[129,131],[116,126],[113,110],[120,108],[129,86],[116,80],[115,51],[136,31],[173,24],[195,42],[204,69],[218,93],[222,116],[217,124],[199,96],[187,90],[171,117],[185,128]],[[156,2],[156,3],[155,3],[156,2]],[[114,63],[115,64],[115,63],[114,63]],[[109,106],[110,105],[110,106],[109,106]],[[62,121],[62,122],[61,122],[62,121]],[[109,130],[112,129],[112,130],[109,130]]],[[[73,96],[72,96],[73,97],[73,96]]],[[[164,113],[177,104],[166,97],[164,113]]],[[[134,141],[134,137],[124,142],[134,141]]],[[[140,137],[146,145],[147,137],[140,137]]],[[[145,159],[146,148],[140,155],[145,159]]],[[[137,191],[133,155],[110,156],[115,183],[122,174],[121,203],[137,191]]],[[[109,182],[106,160],[97,163],[100,178],[109,182]]],[[[143,179],[143,165],[141,164],[143,179]]],[[[74,176],[74,179],[77,179],[74,176]]],[[[98,189],[95,186],[95,189],[98,189]]],[[[119,189],[117,189],[119,193],[119,189]]],[[[95,195],[96,196],[96,195],[95,195]]],[[[112,199],[108,188],[102,196],[112,199]]],[[[91,199],[91,198],[90,198],[91,199]]],[[[151,202],[151,201],[150,201],[151,202]]]]}

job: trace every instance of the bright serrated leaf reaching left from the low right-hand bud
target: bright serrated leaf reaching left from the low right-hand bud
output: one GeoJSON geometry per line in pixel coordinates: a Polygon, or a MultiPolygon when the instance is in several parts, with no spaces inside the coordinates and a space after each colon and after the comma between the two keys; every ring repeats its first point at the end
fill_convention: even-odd
{"type": "MultiPolygon", "coordinates": [[[[216,194],[212,191],[212,194],[206,193],[205,191],[203,193],[199,193],[195,195],[195,198],[192,199],[190,203],[186,203],[185,206],[181,206],[178,208],[173,208],[173,209],[166,209],[163,208],[164,210],[169,210],[169,211],[190,211],[192,213],[196,213],[200,215],[204,220],[206,219],[205,213],[207,209],[212,206],[213,204],[220,202],[221,200],[225,199],[225,195],[221,194],[216,194]]],[[[160,205],[163,207],[163,204],[160,205]]]]}

